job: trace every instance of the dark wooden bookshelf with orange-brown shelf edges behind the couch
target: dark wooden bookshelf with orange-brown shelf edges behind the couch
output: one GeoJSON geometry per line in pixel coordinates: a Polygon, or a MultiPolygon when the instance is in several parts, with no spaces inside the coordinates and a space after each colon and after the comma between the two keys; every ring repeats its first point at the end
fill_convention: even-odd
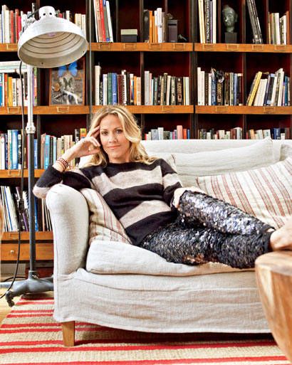
{"type": "MultiPolygon", "coordinates": [[[[199,43],[197,0],[110,1],[114,43],[96,42],[95,19],[93,6],[91,6],[92,28],[87,28],[88,41],[91,39],[91,43],[86,54],[84,105],[49,105],[49,71],[39,70],[38,106],[33,107],[38,142],[40,142],[43,133],[61,137],[63,134],[73,134],[75,128],[90,126],[90,118],[100,108],[100,106],[95,105],[94,90],[94,66],[98,63],[102,67],[102,73],[120,73],[120,70],[125,69],[141,77],[144,75],[145,70],[150,70],[155,76],[163,75],[165,72],[175,76],[189,76],[189,105],[144,105],[145,99],[143,96],[142,105],[127,106],[137,117],[143,134],[157,127],[174,129],[178,124],[189,128],[192,138],[197,138],[198,130],[202,128],[227,130],[241,127],[244,138],[246,137],[246,131],[251,128],[288,127],[291,129],[292,106],[249,107],[246,106],[246,99],[254,75],[258,70],[275,72],[278,68],[283,68],[290,78],[292,76],[292,0],[256,0],[264,37],[263,44],[252,43],[251,23],[246,8],[246,0],[228,1],[228,4],[238,14],[235,27],[237,43],[224,43],[224,25],[221,20],[221,9],[224,4],[226,4],[225,1],[217,0],[217,43],[199,43]],[[163,11],[172,14],[178,20],[178,34],[184,36],[187,41],[185,43],[144,42],[143,6],[144,9],[152,10],[160,6],[163,11]],[[286,45],[267,44],[268,12],[276,11],[280,14],[285,11],[290,12],[288,23],[290,43],[286,45]],[[125,28],[137,28],[137,43],[121,42],[120,30],[125,28]],[[90,64],[91,69],[89,68],[90,64]],[[201,67],[208,72],[213,67],[226,72],[242,73],[242,105],[198,105],[197,67],[201,67]]],[[[25,12],[31,10],[30,1],[8,0],[6,5],[9,9],[18,7],[25,12]]],[[[36,1],[37,8],[43,5],[46,5],[45,1],[36,1]]],[[[75,12],[86,13],[88,19],[90,16],[89,0],[64,0],[62,4],[60,4],[60,1],[52,0],[50,5],[54,6],[55,9],[61,9],[61,11],[70,9],[73,14],[75,12]]],[[[89,23],[87,21],[88,27],[89,23]]],[[[17,44],[0,43],[0,58],[1,61],[16,60],[17,44]]],[[[143,87],[142,82],[142,90],[143,87]]],[[[291,81],[290,88],[292,88],[291,81]]],[[[27,114],[26,107],[25,113],[27,114]]],[[[20,129],[21,107],[0,107],[0,121],[0,129],[3,132],[6,132],[7,129],[20,129]]],[[[36,169],[36,179],[42,173],[43,170],[36,169]]],[[[19,170],[0,170],[0,183],[16,186],[19,184],[20,176],[19,170]]],[[[24,176],[27,178],[27,171],[24,172],[24,176]]],[[[17,235],[16,233],[4,233],[3,239],[7,250],[9,250],[9,245],[16,243],[17,235]]],[[[51,233],[36,233],[38,244],[49,245],[52,239],[51,233]]],[[[27,244],[28,233],[21,233],[21,240],[27,244]]],[[[49,246],[50,250],[51,247],[52,245],[49,246]]],[[[37,256],[40,252],[37,250],[37,256]]],[[[11,258],[11,256],[7,257],[11,258]]]]}

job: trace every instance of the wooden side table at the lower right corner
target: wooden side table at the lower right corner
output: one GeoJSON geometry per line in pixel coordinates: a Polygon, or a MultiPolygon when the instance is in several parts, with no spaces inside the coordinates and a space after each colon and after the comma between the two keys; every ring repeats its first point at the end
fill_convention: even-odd
{"type": "Polygon", "coordinates": [[[257,258],[256,280],[273,337],[292,362],[292,251],[257,258]]]}

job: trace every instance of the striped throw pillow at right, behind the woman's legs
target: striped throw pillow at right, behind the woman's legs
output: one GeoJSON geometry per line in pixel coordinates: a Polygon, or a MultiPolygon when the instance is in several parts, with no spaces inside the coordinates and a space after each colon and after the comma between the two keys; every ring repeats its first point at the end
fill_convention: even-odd
{"type": "Polygon", "coordinates": [[[292,216],[292,157],[259,169],[199,176],[196,185],[275,228],[292,216]]]}

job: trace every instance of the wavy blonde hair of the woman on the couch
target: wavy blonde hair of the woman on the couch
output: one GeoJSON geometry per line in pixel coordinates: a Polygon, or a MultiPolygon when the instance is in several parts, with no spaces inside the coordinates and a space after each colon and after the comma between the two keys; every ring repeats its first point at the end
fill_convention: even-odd
{"type": "MultiPolygon", "coordinates": [[[[100,125],[100,122],[107,115],[115,115],[121,122],[123,132],[128,141],[130,141],[130,162],[143,162],[145,164],[152,164],[156,159],[155,157],[149,157],[145,151],[144,146],[141,144],[141,131],[137,126],[135,116],[132,115],[126,107],[122,105],[106,105],[100,108],[93,117],[93,121],[90,126],[90,130],[100,125]]],[[[93,154],[91,159],[85,164],[90,165],[103,165],[106,166],[108,163],[108,155],[100,146],[100,152],[93,154]]]]}

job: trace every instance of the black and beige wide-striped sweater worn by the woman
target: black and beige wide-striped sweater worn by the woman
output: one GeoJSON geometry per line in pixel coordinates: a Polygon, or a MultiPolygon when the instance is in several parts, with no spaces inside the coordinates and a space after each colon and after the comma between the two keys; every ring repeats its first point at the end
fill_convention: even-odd
{"type": "Polygon", "coordinates": [[[97,190],[108,203],[134,245],[147,234],[174,221],[174,191],[182,185],[177,173],[164,159],[150,165],[142,162],[87,166],[60,172],[49,166],[38,179],[33,194],[46,197],[54,184],[62,182],[76,190],[97,190]]]}

